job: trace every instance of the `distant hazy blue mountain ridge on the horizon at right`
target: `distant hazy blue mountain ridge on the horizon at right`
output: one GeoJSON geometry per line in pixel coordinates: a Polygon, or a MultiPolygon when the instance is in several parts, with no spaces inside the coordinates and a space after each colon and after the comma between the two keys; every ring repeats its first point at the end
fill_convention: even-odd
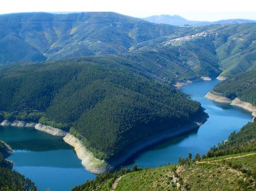
{"type": "Polygon", "coordinates": [[[249,20],[249,19],[228,19],[228,20],[218,20],[215,22],[208,22],[208,21],[195,21],[195,20],[187,20],[178,15],[167,15],[161,14],[157,16],[150,16],[146,18],[142,18],[148,22],[152,23],[161,23],[161,24],[168,24],[168,25],[175,25],[175,26],[184,26],[184,25],[214,25],[214,24],[236,24],[236,23],[255,23],[256,20],[249,20]]]}

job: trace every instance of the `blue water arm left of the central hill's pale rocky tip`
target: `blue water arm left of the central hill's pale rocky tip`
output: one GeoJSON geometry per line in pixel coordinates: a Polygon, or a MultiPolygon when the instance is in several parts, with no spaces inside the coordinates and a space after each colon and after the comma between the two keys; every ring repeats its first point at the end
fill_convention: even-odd
{"type": "Polygon", "coordinates": [[[31,128],[1,127],[0,139],[14,151],[14,170],[40,190],[65,191],[96,176],[86,171],[73,148],[62,138],[31,128]]]}

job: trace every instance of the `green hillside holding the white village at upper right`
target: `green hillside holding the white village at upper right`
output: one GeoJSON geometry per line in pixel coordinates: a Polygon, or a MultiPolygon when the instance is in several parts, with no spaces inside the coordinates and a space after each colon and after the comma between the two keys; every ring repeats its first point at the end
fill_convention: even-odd
{"type": "Polygon", "coordinates": [[[134,50],[156,47],[184,49],[189,52],[186,55],[191,56],[189,60],[185,60],[188,65],[200,68],[211,60],[223,70],[222,76],[231,76],[255,66],[255,40],[255,23],[210,25],[187,28],[165,37],[144,41],[136,44],[134,50]],[[199,48],[194,52],[196,47],[199,48]]]}

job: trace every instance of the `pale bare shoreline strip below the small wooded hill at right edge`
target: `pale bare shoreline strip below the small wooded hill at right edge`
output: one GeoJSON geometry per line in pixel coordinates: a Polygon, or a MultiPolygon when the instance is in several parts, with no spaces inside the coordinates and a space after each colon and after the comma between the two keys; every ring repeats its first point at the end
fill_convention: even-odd
{"type": "Polygon", "coordinates": [[[239,98],[231,100],[231,99],[228,99],[227,97],[214,94],[213,92],[208,92],[207,94],[205,94],[204,97],[206,97],[209,100],[213,100],[214,102],[228,103],[229,105],[237,106],[239,108],[245,109],[246,111],[251,112],[252,116],[254,117],[252,121],[254,121],[256,117],[256,106],[253,106],[249,102],[243,102],[239,98]]]}

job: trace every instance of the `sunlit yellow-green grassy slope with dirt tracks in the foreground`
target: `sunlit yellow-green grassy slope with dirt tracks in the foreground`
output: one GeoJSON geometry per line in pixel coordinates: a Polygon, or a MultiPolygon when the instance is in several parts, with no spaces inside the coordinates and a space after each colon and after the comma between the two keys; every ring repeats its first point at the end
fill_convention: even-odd
{"type": "MultiPolygon", "coordinates": [[[[255,190],[255,160],[254,154],[218,162],[143,169],[123,175],[116,190],[255,190]]],[[[110,190],[114,178],[98,183],[97,190],[110,190]]],[[[73,190],[95,190],[87,185],[73,190]]]]}

